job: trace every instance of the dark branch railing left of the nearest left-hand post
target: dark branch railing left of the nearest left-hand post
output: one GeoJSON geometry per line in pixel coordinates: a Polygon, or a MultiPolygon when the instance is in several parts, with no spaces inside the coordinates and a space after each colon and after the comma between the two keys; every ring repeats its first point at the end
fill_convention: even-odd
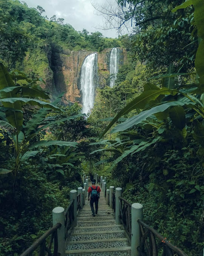
{"type": "Polygon", "coordinates": [[[29,256],[32,252],[34,252],[38,247],[39,248],[39,256],[58,256],[58,240],[57,240],[57,229],[62,226],[61,223],[57,223],[51,229],[47,230],[45,234],[43,234],[40,238],[38,238],[25,252],[23,252],[20,256],[29,256]],[[46,246],[46,238],[51,235],[50,242],[48,246],[46,246]],[[51,252],[51,247],[54,240],[54,248],[53,252],[51,252]]]}

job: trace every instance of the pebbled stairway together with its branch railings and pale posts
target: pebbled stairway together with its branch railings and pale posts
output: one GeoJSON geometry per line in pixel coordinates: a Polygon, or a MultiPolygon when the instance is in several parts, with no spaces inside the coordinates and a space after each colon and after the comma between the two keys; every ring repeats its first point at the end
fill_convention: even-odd
{"type": "Polygon", "coordinates": [[[102,188],[96,217],[92,217],[87,197],[91,184],[84,175],[84,189],[71,190],[66,210],[53,209],[53,228],[21,256],[35,250],[39,256],[158,256],[158,251],[162,256],[187,256],[143,222],[143,206],[122,198],[122,188],[106,189],[106,177],[95,173],[94,178],[102,188]]]}

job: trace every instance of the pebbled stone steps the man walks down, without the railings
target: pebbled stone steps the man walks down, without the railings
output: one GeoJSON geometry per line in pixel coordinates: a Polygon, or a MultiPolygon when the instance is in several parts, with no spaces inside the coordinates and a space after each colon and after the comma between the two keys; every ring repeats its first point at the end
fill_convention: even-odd
{"type": "Polygon", "coordinates": [[[100,193],[98,214],[92,216],[88,197],[77,216],[66,245],[66,256],[131,256],[123,225],[115,224],[115,214],[100,193]]]}

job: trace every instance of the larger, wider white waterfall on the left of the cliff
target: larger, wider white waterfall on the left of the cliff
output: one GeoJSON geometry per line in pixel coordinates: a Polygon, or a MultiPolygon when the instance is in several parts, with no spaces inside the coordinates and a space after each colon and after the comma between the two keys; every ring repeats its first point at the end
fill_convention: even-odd
{"type": "Polygon", "coordinates": [[[88,55],[81,68],[82,113],[88,113],[94,106],[95,87],[97,85],[97,53],[88,55]]]}

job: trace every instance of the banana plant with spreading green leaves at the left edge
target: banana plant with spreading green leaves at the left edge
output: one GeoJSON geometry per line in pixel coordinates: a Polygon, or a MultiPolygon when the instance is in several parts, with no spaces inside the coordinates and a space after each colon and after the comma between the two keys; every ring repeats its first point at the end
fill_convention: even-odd
{"type": "Polygon", "coordinates": [[[46,119],[46,115],[49,111],[57,110],[62,111],[60,108],[55,106],[59,99],[57,99],[53,104],[33,99],[33,98],[23,98],[22,96],[29,97],[40,97],[43,99],[49,98],[49,96],[43,92],[41,88],[29,85],[15,86],[12,77],[7,72],[6,68],[0,63],[0,102],[3,107],[1,111],[0,127],[5,129],[10,135],[12,142],[14,144],[14,166],[11,170],[0,169],[0,174],[5,174],[12,172],[14,176],[14,186],[16,184],[17,174],[19,172],[22,161],[29,159],[30,157],[35,156],[39,150],[39,147],[48,147],[50,145],[57,146],[69,146],[76,147],[77,142],[63,142],[57,140],[41,140],[35,143],[32,143],[34,138],[42,132],[43,130],[51,127],[53,124],[64,122],[65,120],[71,120],[77,118],[78,116],[84,116],[84,114],[78,114],[75,116],[69,116],[61,120],[51,120],[46,119]],[[32,106],[39,106],[40,109],[23,126],[23,105],[30,104],[32,106]]]}

